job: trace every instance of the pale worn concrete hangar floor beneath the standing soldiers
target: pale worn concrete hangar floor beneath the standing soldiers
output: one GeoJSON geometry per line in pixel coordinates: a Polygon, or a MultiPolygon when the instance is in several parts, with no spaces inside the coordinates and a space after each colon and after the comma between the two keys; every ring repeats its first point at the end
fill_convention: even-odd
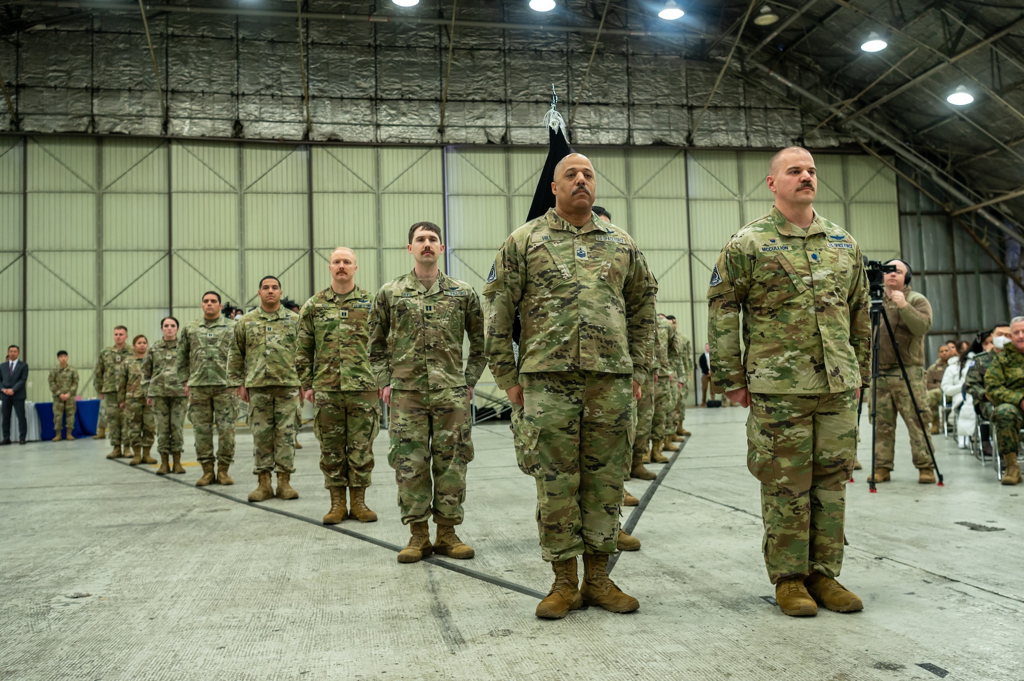
{"type": "Polygon", "coordinates": [[[640,610],[553,622],[534,617],[552,575],[507,422],[474,432],[459,532],[476,557],[414,564],[395,560],[408,531],[386,434],[368,494],[381,519],[334,529],[319,523],[328,494],[308,427],[292,479],[301,498],[261,504],[245,501],[245,429],[226,488],[194,487],[195,464],[160,478],[105,460],[93,440],[5,447],[0,678],[1024,678],[1024,489],[941,436],[946,487],[920,486],[900,430],[893,482],[868,495],[860,470],[849,488],[840,579],[865,609],[788,618],[760,556],[744,418],[691,408],[671,468],[628,483],[638,497],[656,486],[624,517],[643,548],[612,572],[640,610]]]}

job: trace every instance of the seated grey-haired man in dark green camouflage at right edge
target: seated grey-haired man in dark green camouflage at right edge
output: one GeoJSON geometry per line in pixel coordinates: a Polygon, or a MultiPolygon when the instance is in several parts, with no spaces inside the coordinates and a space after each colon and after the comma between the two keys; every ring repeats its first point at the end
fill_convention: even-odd
{"type": "MultiPolygon", "coordinates": [[[[1004,485],[1018,485],[1017,464],[1020,429],[1024,426],[1024,317],[1010,320],[1010,343],[998,336],[1002,352],[992,358],[985,372],[985,395],[991,403],[990,421],[995,428],[999,456],[1006,466],[1004,485]]],[[[992,338],[995,345],[995,338],[992,338]]]]}

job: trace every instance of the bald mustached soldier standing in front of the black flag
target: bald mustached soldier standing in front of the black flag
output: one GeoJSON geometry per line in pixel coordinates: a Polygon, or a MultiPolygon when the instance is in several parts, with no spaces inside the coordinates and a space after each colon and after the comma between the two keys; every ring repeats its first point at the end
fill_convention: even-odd
{"type": "Polygon", "coordinates": [[[555,574],[537,606],[541,618],[563,618],[584,603],[613,612],[640,607],[608,578],[607,562],[634,404],[649,369],[657,282],[629,234],[591,211],[595,186],[587,156],[558,162],[555,208],[512,232],[483,287],[490,371],[522,406],[521,417],[513,411],[517,459],[537,482],[541,555],[555,574]]]}

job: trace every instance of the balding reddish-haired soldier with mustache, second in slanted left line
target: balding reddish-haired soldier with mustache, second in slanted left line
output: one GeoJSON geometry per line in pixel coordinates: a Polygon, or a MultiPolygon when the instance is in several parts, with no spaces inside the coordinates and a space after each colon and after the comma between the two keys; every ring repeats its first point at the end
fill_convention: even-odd
{"type": "Polygon", "coordinates": [[[345,488],[352,516],[374,523],[366,491],[374,469],[374,440],[380,432],[380,398],[370,369],[370,292],[355,285],[358,266],[351,248],[338,247],[328,263],[331,285],[299,311],[295,367],[321,443],[324,487],[331,509],[324,525],[345,519],[345,488]]]}

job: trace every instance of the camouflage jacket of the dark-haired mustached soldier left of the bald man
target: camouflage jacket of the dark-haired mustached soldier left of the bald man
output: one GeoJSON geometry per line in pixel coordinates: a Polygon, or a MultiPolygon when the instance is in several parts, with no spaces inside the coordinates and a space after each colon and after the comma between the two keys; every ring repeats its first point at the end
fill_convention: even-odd
{"type": "Polygon", "coordinates": [[[380,388],[432,391],[475,385],[486,366],[483,313],[476,291],[443,272],[427,290],[415,270],[381,286],[371,315],[370,363],[380,388]],[[465,369],[464,335],[469,335],[465,369]]]}

